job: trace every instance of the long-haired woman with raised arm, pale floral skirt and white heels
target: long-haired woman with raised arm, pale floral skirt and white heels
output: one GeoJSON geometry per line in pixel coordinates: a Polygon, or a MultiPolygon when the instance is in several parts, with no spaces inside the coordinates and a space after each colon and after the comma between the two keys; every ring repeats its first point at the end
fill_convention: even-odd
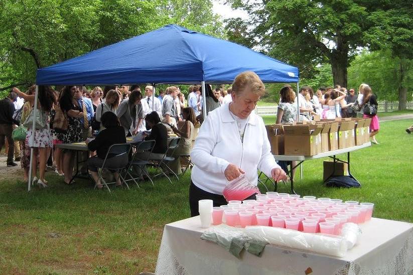
{"type": "MultiPolygon", "coordinates": [[[[22,98],[29,101],[33,106],[35,101],[35,94],[25,94],[18,88],[13,90],[22,98]]],[[[55,102],[55,95],[49,86],[39,86],[38,89],[38,104],[36,117],[33,109],[27,117],[23,125],[27,127],[26,147],[34,148],[32,161],[32,184],[37,184],[39,187],[47,187],[45,180],[46,162],[50,154],[50,149],[53,147],[53,137],[49,125],[49,112],[55,102]],[[36,121],[35,129],[33,129],[33,120],[36,121]],[[32,141],[32,135],[34,139],[32,141]],[[39,179],[37,178],[37,162],[39,160],[39,179]]]]}

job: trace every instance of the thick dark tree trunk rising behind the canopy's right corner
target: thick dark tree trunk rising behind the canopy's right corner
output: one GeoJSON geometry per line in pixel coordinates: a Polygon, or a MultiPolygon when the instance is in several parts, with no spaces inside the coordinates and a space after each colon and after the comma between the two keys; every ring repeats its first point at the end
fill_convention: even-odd
{"type": "Polygon", "coordinates": [[[337,35],[336,48],[331,51],[330,64],[334,85],[347,87],[348,46],[340,35],[337,35]]]}

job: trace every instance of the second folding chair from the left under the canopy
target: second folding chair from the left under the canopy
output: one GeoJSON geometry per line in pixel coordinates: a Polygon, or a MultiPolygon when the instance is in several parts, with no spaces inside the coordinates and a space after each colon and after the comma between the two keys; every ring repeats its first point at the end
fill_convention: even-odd
{"type": "Polygon", "coordinates": [[[154,182],[152,181],[148,172],[144,168],[146,165],[149,164],[149,158],[152,153],[152,150],[154,150],[155,144],[155,141],[143,141],[136,144],[136,149],[135,153],[133,154],[132,160],[129,162],[127,168],[125,169],[125,182],[133,181],[136,184],[136,186],[139,187],[139,184],[137,184],[137,182],[139,182],[141,180],[141,177],[143,177],[143,174],[145,174],[151,181],[152,185],[154,185],[154,182]],[[130,174],[131,170],[134,170],[136,172],[136,167],[139,167],[141,170],[140,173],[136,173],[137,178],[133,177],[130,174]],[[126,179],[126,177],[129,177],[129,179],[126,179]]]}

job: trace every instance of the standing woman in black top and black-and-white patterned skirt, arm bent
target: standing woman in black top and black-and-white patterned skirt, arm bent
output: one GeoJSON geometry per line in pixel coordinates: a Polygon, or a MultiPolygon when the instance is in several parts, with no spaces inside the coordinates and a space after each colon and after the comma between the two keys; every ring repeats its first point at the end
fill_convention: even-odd
{"type": "MultiPolygon", "coordinates": [[[[76,143],[82,141],[82,126],[80,118],[83,117],[82,107],[75,99],[76,86],[65,86],[60,94],[59,106],[68,119],[67,131],[62,134],[63,143],[76,143]]],[[[75,154],[71,150],[63,150],[63,173],[65,183],[70,184],[75,165],[75,154]]]]}

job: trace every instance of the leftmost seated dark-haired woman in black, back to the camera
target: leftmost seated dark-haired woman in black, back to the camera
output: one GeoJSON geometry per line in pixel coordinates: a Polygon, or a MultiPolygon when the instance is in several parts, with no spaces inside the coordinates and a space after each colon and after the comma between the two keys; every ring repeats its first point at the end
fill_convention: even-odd
{"type": "MultiPolygon", "coordinates": [[[[125,132],[123,127],[120,125],[116,114],[112,112],[103,113],[101,123],[105,129],[101,130],[93,141],[86,141],[89,151],[96,151],[96,156],[93,156],[87,160],[87,167],[89,168],[98,189],[102,189],[103,185],[100,183],[97,170],[102,167],[109,147],[114,144],[126,143],[125,132]]],[[[110,157],[111,156],[108,156],[108,159],[106,160],[107,164],[111,161],[110,157]]],[[[125,158],[127,164],[128,156],[125,155],[125,158]]],[[[118,161],[119,160],[116,160],[116,162],[118,161]]],[[[119,174],[114,172],[113,176],[116,179],[116,186],[121,186],[122,182],[119,179],[119,174]]]]}

